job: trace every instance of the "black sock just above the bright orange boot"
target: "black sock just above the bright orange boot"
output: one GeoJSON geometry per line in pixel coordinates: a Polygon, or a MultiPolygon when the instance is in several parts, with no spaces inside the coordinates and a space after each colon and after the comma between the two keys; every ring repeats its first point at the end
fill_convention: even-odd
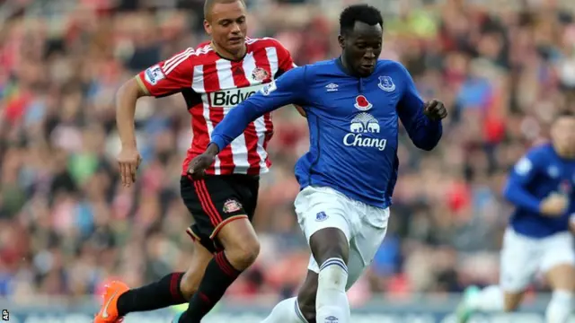
{"type": "Polygon", "coordinates": [[[185,303],[180,283],[183,273],[172,273],[159,281],[131,289],[118,298],[118,312],[124,316],[130,312],[158,310],[185,303]]]}

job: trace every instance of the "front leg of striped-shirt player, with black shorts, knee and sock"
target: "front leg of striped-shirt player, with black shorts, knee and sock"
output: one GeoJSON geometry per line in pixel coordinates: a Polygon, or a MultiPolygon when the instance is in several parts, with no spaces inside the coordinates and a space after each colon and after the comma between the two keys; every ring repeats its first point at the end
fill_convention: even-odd
{"type": "Polygon", "coordinates": [[[222,248],[209,261],[198,291],[191,297],[180,323],[199,322],[222,298],[227,287],[258,257],[260,242],[251,223],[257,201],[257,183],[257,179],[247,176],[194,180],[203,209],[210,215],[210,238],[222,248]]]}

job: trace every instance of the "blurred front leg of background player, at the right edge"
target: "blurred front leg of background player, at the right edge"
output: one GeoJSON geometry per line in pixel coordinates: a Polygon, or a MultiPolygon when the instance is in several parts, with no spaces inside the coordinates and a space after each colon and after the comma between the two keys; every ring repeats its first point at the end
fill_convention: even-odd
{"type": "Polygon", "coordinates": [[[575,291],[575,254],[571,233],[559,233],[545,241],[542,271],[553,291],[545,310],[547,323],[565,323],[571,315],[575,291]]]}

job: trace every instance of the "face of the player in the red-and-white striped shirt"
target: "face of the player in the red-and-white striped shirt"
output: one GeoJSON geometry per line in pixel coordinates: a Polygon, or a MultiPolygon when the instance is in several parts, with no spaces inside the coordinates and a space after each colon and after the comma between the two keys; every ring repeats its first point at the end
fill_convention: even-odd
{"type": "Polygon", "coordinates": [[[245,48],[246,14],[242,1],[216,3],[204,21],[204,27],[219,48],[237,54],[245,48]]]}

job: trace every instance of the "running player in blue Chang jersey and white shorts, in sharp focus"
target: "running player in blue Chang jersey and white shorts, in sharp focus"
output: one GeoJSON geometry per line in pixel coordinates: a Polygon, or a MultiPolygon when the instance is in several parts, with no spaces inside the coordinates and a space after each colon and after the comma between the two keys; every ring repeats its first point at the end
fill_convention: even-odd
{"type": "Polygon", "coordinates": [[[297,67],[232,109],[205,153],[190,163],[201,176],[218,152],[262,114],[304,107],[310,149],[296,163],[298,223],[312,257],[297,297],[281,301],[265,323],[349,323],[346,291],[385,237],[399,161],[398,120],[420,149],[433,149],[447,117],[424,102],[403,65],[378,59],[383,18],[366,4],[341,13],[341,57],[297,67]],[[317,319],[316,319],[317,317],[317,319]]]}

